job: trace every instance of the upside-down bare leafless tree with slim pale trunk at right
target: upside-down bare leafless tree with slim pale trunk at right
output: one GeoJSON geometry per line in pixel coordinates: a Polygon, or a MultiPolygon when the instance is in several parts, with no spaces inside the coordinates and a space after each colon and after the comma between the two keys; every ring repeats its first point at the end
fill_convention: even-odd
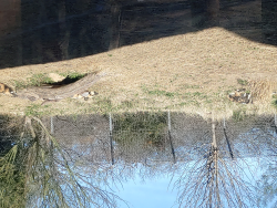
{"type": "Polygon", "coordinates": [[[214,119],[212,133],[207,152],[185,165],[174,184],[179,191],[179,207],[257,207],[250,168],[245,169],[244,159],[233,160],[218,148],[214,119]]]}

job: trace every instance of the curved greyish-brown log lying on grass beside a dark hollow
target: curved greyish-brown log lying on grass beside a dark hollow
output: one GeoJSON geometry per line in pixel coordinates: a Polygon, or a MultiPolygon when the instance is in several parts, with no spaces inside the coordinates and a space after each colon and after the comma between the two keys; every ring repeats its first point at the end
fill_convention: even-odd
{"type": "Polygon", "coordinates": [[[30,101],[42,100],[44,102],[45,101],[58,102],[63,98],[72,97],[75,94],[82,94],[104,75],[105,74],[88,74],[86,76],[74,83],[58,89],[30,87],[17,92],[17,95],[20,98],[27,98],[30,101]]]}

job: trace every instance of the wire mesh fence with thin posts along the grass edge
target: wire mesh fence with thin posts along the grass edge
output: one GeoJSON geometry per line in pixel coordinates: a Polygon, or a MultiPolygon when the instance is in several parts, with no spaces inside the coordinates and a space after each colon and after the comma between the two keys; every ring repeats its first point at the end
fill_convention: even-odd
{"type": "MultiPolygon", "coordinates": [[[[276,115],[265,115],[214,122],[222,157],[271,153],[276,121],[276,115]]],[[[62,148],[92,163],[189,162],[205,157],[213,143],[213,121],[183,113],[54,116],[42,122],[62,148]]],[[[1,126],[1,148],[20,138],[20,132],[13,134],[1,126]]]]}

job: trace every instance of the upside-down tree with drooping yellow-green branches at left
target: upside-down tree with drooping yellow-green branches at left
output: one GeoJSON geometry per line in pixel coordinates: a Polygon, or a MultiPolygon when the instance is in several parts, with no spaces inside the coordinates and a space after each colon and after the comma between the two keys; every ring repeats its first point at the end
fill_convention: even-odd
{"type": "Polygon", "coordinates": [[[109,187],[106,167],[84,173],[82,164],[61,148],[38,117],[25,117],[21,131],[19,142],[0,160],[0,178],[7,178],[7,170],[14,166],[28,207],[116,207],[120,198],[104,188],[109,187]]]}

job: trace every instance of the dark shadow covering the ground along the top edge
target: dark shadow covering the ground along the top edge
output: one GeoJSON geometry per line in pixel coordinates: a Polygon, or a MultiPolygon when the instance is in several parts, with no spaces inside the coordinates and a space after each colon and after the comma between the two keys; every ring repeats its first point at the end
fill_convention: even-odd
{"type": "Polygon", "coordinates": [[[3,2],[0,69],[82,58],[211,27],[277,44],[276,0],[3,2]],[[6,25],[9,14],[16,18],[6,25]]]}

